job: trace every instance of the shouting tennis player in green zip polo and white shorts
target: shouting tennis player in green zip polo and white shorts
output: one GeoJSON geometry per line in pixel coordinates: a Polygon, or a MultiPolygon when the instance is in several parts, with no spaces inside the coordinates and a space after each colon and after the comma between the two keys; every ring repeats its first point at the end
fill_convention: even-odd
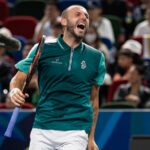
{"type": "MultiPolygon", "coordinates": [[[[104,56],[82,43],[89,26],[84,7],[68,7],[62,13],[61,24],[64,34],[45,43],[37,66],[40,100],[30,150],[85,150],[87,145],[88,150],[98,150],[94,130],[99,85],[105,75],[104,56]]],[[[10,83],[11,101],[16,106],[27,97],[21,89],[36,47],[16,64],[19,71],[10,83]]]]}

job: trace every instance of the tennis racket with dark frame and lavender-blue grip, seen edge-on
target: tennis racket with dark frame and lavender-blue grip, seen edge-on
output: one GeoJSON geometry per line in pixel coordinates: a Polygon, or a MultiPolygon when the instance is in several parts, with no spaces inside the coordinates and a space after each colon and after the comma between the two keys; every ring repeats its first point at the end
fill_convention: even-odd
{"type": "MultiPolygon", "coordinates": [[[[22,92],[24,94],[26,93],[28,85],[31,81],[31,78],[32,78],[33,74],[34,74],[35,67],[38,63],[38,59],[40,57],[40,54],[41,54],[43,46],[44,46],[45,38],[46,38],[46,36],[43,35],[40,42],[39,42],[39,44],[38,44],[38,46],[37,46],[34,57],[32,59],[32,63],[30,65],[30,68],[29,68],[29,71],[28,71],[28,74],[27,74],[27,78],[26,78],[26,81],[25,81],[23,89],[22,89],[22,92]]],[[[6,129],[6,132],[4,134],[5,137],[11,137],[12,131],[14,129],[14,126],[15,126],[15,123],[16,123],[19,112],[20,112],[20,107],[15,107],[15,109],[13,110],[13,114],[11,116],[11,119],[9,121],[8,127],[6,129]]]]}

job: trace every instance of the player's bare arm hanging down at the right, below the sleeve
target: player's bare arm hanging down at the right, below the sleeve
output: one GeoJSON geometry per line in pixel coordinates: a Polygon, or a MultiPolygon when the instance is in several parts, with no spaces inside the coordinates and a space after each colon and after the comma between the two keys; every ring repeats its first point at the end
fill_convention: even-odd
{"type": "Polygon", "coordinates": [[[98,85],[92,86],[90,101],[93,106],[94,119],[93,119],[93,124],[90,130],[90,134],[89,134],[88,150],[98,150],[98,147],[94,139],[95,127],[96,127],[96,122],[97,122],[98,113],[99,113],[99,86],[98,85]]]}

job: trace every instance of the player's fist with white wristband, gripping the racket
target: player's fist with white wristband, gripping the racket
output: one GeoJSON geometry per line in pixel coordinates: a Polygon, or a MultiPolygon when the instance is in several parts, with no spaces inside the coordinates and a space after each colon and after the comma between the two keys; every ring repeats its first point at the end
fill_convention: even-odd
{"type": "Polygon", "coordinates": [[[25,98],[29,95],[23,94],[19,88],[13,88],[9,93],[9,97],[13,105],[21,107],[25,102],[25,98]]]}

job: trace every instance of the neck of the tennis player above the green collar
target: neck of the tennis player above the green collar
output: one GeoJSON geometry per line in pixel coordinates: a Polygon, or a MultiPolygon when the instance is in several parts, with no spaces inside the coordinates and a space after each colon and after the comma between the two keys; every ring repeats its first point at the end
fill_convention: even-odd
{"type": "Polygon", "coordinates": [[[64,33],[63,40],[73,49],[76,48],[82,41],[81,39],[77,39],[73,35],[67,33],[64,33]]]}

